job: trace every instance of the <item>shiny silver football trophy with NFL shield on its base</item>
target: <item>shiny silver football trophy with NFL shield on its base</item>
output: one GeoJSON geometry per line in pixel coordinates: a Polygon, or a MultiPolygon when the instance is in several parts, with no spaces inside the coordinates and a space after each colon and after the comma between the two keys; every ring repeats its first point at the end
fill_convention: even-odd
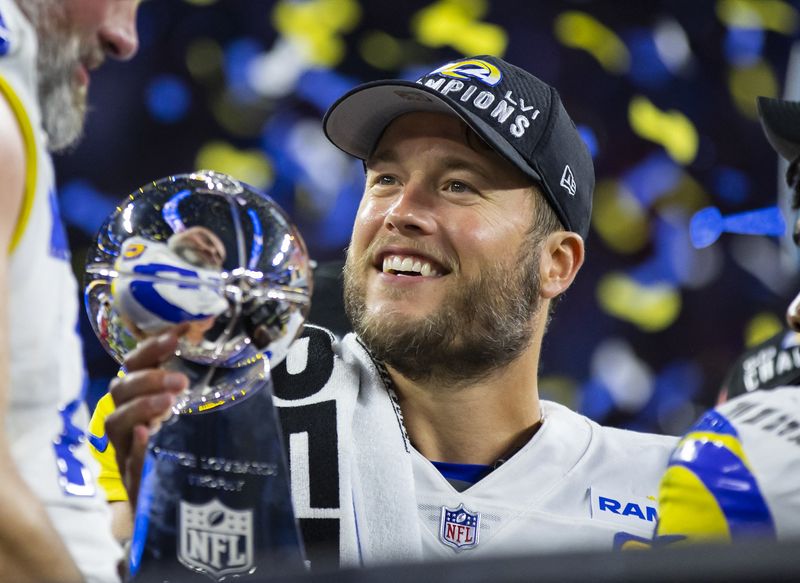
{"type": "Polygon", "coordinates": [[[86,284],[94,330],[120,363],[142,340],[186,330],[164,366],[190,384],[148,445],[134,580],[263,578],[302,565],[270,382],[312,288],[286,215],[225,174],[152,182],[101,228],[86,284]]]}

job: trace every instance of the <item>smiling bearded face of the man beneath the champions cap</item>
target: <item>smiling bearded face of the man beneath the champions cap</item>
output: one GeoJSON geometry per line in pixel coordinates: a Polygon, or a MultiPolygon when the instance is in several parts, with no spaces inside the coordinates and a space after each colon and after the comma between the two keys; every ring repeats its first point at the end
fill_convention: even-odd
{"type": "Polygon", "coordinates": [[[406,114],[367,160],[345,306],[373,355],[415,379],[487,374],[530,344],[540,308],[529,180],[466,126],[406,114]]]}

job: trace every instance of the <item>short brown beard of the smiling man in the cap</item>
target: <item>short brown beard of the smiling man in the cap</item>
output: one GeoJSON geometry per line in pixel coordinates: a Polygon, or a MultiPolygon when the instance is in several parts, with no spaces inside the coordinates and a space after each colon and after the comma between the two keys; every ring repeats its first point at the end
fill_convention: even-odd
{"type": "Polygon", "coordinates": [[[531,316],[540,306],[539,246],[522,244],[517,261],[495,263],[463,281],[428,316],[370,312],[366,274],[371,252],[348,250],[345,310],[353,329],[379,361],[416,381],[458,386],[478,380],[517,358],[533,336],[531,316]]]}

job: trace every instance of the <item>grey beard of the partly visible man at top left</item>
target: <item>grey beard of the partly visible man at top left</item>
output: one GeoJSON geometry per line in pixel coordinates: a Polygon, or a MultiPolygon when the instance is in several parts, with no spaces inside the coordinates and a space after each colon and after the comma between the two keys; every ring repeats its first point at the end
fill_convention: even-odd
{"type": "Polygon", "coordinates": [[[80,40],[70,32],[63,0],[17,0],[17,4],[36,29],[42,125],[47,148],[59,152],[83,134],[86,92],[75,79],[82,56],[80,40]]]}

